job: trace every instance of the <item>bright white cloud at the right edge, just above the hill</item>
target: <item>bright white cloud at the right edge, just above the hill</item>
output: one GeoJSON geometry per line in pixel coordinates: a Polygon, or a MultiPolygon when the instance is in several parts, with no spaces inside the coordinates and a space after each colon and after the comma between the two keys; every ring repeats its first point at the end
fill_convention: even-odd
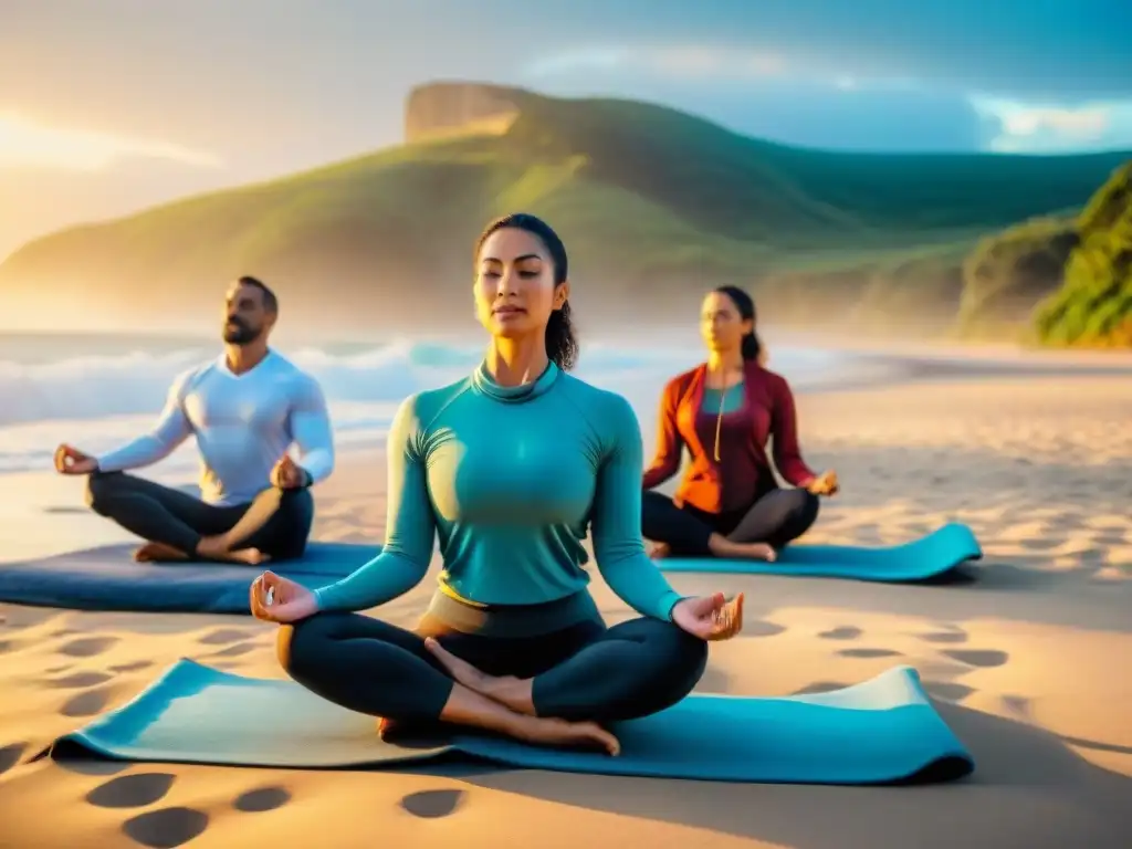
{"type": "Polygon", "coordinates": [[[975,96],[971,104],[996,130],[987,147],[1001,153],[1063,153],[1132,147],[1132,101],[1053,106],[975,96]]]}

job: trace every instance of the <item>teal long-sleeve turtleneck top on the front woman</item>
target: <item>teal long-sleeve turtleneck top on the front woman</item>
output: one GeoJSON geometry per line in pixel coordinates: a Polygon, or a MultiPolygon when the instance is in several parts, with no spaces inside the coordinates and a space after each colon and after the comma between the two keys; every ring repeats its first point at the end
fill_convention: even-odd
{"type": "Polygon", "coordinates": [[[668,619],[680,595],[641,537],[641,429],[628,402],[550,366],[517,387],[481,365],[418,393],[388,439],[386,542],[316,591],[321,610],[383,604],[424,577],[438,535],[449,594],[473,604],[534,604],[589,584],[588,526],[609,586],[668,619]]]}

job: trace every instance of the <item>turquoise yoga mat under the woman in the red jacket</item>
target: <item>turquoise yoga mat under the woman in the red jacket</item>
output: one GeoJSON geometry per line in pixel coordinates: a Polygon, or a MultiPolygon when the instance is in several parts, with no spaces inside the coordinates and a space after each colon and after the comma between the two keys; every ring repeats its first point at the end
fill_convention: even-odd
{"type": "Polygon", "coordinates": [[[661,572],[715,572],[746,575],[841,577],[892,583],[928,581],[978,560],[983,549],[963,524],[946,524],[918,540],[900,546],[787,546],[774,563],[723,558],[663,558],[661,572]]]}

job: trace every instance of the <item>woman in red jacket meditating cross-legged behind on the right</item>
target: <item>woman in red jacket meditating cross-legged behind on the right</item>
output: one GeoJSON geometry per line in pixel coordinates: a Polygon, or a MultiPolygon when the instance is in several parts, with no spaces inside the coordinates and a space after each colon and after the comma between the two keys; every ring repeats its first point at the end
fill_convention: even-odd
{"type": "Polygon", "coordinates": [[[646,491],[643,535],[654,557],[734,557],[773,560],[817,518],[818,496],[838,491],[833,471],[816,474],[798,448],[794,395],[763,367],[755,305],[746,292],[721,286],[704,299],[701,327],[707,362],[664,387],[657,455],[644,473],[653,490],[692,463],[675,498],[646,491]],[[780,488],[766,455],[791,483],[780,488]]]}

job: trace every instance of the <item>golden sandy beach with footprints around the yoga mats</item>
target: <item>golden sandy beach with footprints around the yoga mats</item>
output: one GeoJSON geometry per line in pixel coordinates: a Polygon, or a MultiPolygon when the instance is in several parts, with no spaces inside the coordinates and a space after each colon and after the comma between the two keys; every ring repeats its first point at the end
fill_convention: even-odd
{"type": "MultiPolygon", "coordinates": [[[[33,760],[179,658],[281,677],[275,628],[0,606],[0,847],[1132,846],[1132,380],[1066,368],[813,393],[798,405],[807,460],[835,468],[843,487],[807,541],[894,543],[966,522],[986,552],[979,580],[675,575],[685,593],[747,598],[744,634],[713,648],[698,689],[782,695],[907,663],[972,753],[968,779],[850,788],[33,760]]],[[[318,490],[315,537],[380,541],[384,487],[379,452],[344,454],[318,490]]],[[[53,504],[79,505],[74,481],[52,491],[53,504]]],[[[57,539],[96,521],[51,505],[36,515],[34,532],[57,539]]],[[[27,521],[9,509],[0,533],[22,537],[27,521]]],[[[411,625],[434,585],[381,615],[411,625]]],[[[593,591],[610,621],[629,616],[600,577],[593,591]]]]}

